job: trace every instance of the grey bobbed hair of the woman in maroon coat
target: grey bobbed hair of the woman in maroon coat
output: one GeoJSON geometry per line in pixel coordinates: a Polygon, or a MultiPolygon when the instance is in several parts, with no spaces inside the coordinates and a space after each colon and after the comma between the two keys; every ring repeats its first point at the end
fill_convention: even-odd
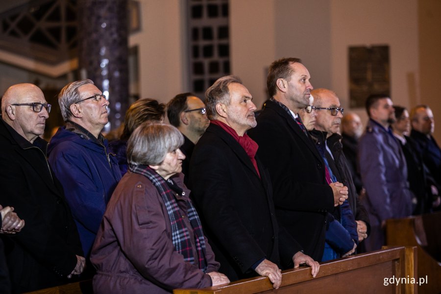
{"type": "Polygon", "coordinates": [[[168,152],[184,144],[184,137],[166,123],[140,124],[127,141],[127,162],[132,165],[161,165],[168,152]]]}

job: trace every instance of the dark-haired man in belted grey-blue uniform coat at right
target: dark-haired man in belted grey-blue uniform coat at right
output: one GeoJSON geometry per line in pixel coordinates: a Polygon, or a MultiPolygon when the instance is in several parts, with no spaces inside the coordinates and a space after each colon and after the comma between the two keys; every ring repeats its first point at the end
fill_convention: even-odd
{"type": "Polygon", "coordinates": [[[359,164],[367,195],[362,200],[368,210],[370,236],[366,250],[384,245],[387,219],[412,215],[414,198],[407,182],[407,165],[393,136],[390,124],[395,120],[388,95],[371,95],[366,100],[369,121],[359,143],[359,164]]]}

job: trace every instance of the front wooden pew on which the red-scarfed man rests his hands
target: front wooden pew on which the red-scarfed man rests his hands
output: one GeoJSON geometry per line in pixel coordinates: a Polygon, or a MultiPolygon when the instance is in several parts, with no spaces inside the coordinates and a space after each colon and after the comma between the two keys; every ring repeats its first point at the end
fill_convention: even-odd
{"type": "Polygon", "coordinates": [[[176,289],[173,294],[248,294],[248,293],[408,293],[417,285],[389,284],[385,278],[417,278],[416,247],[388,247],[320,264],[316,278],[309,267],[282,272],[282,285],[276,291],[267,277],[240,280],[221,287],[176,289]]]}

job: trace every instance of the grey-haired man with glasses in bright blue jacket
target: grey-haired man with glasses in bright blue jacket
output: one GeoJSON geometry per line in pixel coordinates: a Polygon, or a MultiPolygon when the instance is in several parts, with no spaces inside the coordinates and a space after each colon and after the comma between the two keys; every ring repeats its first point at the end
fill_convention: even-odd
{"type": "Polygon", "coordinates": [[[58,103],[66,125],[50,140],[49,164],[61,179],[88,260],[107,203],[121,179],[115,154],[108,152],[101,134],[109,121],[109,101],[92,80],[83,79],[66,85],[58,103]]]}

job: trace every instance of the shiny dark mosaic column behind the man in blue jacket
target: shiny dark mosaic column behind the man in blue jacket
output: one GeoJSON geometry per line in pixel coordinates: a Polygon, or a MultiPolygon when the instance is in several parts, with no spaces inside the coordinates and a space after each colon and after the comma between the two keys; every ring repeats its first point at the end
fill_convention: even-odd
{"type": "Polygon", "coordinates": [[[78,0],[81,78],[90,78],[110,102],[109,123],[118,128],[128,107],[128,0],[78,0]]]}

